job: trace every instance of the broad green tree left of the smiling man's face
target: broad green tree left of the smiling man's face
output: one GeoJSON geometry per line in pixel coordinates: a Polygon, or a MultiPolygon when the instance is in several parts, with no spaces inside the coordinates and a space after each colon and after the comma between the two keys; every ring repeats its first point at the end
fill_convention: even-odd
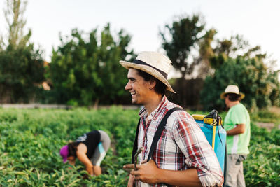
{"type": "Polygon", "coordinates": [[[83,35],[73,29],[70,37],[60,36],[61,46],[52,50],[49,78],[55,101],[74,105],[118,103],[127,95],[127,73],[119,60],[133,55],[133,50],[127,50],[130,36],[120,30],[114,38],[109,24],[100,37],[97,29],[88,39],[83,35]]]}

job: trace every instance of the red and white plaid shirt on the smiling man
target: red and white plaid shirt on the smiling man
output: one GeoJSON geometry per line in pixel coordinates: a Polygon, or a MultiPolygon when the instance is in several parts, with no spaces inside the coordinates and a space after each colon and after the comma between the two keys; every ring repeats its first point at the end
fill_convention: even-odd
{"type": "MultiPolygon", "coordinates": [[[[141,109],[139,116],[138,147],[144,146],[139,162],[148,158],[154,134],[169,109],[178,105],[163,97],[159,106],[149,116],[141,109]]],[[[158,141],[152,158],[161,169],[185,170],[196,168],[202,186],[222,186],[223,174],[218,159],[204,133],[192,116],[186,111],[174,111],[167,119],[167,125],[158,141]]],[[[166,186],[138,181],[137,186],[166,186]]]]}

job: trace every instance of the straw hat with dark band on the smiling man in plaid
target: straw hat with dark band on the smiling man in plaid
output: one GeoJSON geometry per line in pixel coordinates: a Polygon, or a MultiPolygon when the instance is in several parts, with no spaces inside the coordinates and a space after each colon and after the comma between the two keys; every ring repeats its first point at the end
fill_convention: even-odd
{"type": "Polygon", "coordinates": [[[174,92],[167,81],[167,75],[172,68],[172,62],[167,56],[157,52],[144,51],[140,53],[133,62],[120,60],[120,64],[126,69],[140,69],[141,71],[151,74],[162,81],[162,83],[165,83],[165,85],[167,85],[167,90],[174,92]]]}

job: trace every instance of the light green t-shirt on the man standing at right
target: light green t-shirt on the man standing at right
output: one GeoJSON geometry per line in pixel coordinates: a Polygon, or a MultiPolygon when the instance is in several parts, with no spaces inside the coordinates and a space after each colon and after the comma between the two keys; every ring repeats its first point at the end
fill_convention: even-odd
{"type": "Polygon", "coordinates": [[[227,136],[227,149],[228,154],[248,154],[249,149],[249,141],[250,141],[250,116],[245,108],[245,106],[241,103],[232,106],[225,116],[224,125],[225,130],[231,130],[237,124],[245,124],[245,132],[243,134],[237,134],[234,136],[227,136]]]}

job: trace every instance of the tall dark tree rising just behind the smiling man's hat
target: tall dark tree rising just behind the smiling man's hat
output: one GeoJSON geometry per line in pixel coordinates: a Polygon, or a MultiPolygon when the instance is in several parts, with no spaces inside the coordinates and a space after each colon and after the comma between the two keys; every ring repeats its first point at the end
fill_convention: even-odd
{"type": "Polygon", "coordinates": [[[174,68],[181,72],[181,77],[191,74],[197,60],[190,60],[191,50],[197,48],[198,41],[202,39],[204,22],[200,15],[179,18],[172,25],[165,25],[162,36],[162,48],[172,60],[174,68]]]}

